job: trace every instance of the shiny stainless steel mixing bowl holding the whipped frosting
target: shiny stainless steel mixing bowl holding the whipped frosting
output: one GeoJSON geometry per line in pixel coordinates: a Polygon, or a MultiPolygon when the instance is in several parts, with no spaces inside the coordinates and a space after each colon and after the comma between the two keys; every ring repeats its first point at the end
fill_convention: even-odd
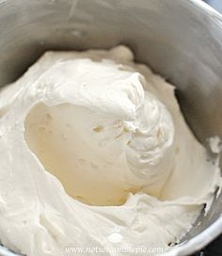
{"type": "MultiPolygon", "coordinates": [[[[182,112],[203,144],[222,137],[222,16],[213,8],[200,0],[0,0],[0,86],[48,49],[119,43],[177,86],[182,112]]],[[[209,244],[222,232],[221,214],[222,196],[169,255],[209,244]]],[[[11,255],[1,248],[0,254],[11,255]]]]}

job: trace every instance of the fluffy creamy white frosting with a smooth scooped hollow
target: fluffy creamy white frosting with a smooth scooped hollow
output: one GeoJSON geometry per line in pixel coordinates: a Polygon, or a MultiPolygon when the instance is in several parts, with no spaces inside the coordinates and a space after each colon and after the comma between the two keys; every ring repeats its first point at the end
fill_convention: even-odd
{"type": "Polygon", "coordinates": [[[48,52],[0,93],[0,239],[35,256],[167,249],[221,184],[206,159],[128,48],[48,52]]]}

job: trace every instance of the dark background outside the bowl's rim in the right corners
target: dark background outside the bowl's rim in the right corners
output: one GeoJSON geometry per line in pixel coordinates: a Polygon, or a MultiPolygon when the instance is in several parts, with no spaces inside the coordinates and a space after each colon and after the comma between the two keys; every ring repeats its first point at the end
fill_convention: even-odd
{"type": "MultiPolygon", "coordinates": [[[[222,13],[222,0],[205,0],[204,2],[222,13]]],[[[222,256],[222,235],[215,239],[209,246],[192,256],[222,256]]]]}

